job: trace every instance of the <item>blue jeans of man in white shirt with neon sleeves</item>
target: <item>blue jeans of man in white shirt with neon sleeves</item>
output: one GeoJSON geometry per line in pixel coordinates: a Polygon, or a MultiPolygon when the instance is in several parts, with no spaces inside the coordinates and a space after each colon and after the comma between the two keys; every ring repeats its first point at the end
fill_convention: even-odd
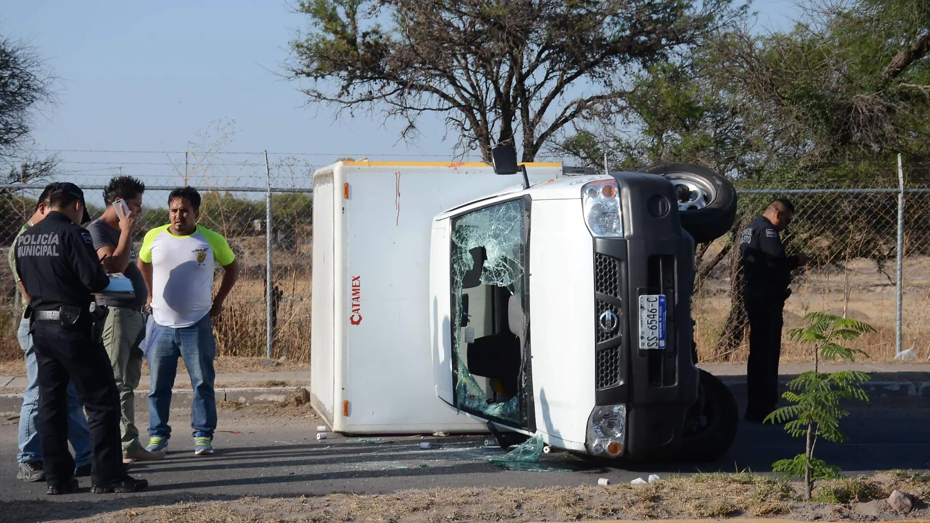
{"type": "Polygon", "coordinates": [[[217,428],[217,400],[213,382],[217,374],[213,369],[213,358],[217,346],[213,340],[213,325],[210,315],[190,327],[162,328],[152,340],[148,358],[151,369],[149,386],[149,436],[171,437],[168,414],[171,411],[171,389],[178,373],[178,357],[184,358],[193,388],[191,428],[213,436],[217,428]]]}

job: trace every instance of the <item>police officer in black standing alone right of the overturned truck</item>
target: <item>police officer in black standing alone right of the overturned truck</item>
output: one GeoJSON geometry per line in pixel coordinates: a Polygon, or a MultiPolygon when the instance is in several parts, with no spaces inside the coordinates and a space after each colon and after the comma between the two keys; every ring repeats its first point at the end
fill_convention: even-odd
{"type": "Polygon", "coordinates": [[[778,403],[781,316],[791,294],[791,271],[808,260],[805,254],[787,256],[778,237],[793,217],[791,202],[777,199],[740,234],[743,300],[750,320],[750,358],[746,366],[746,420],[750,422],[762,422],[778,403]]]}

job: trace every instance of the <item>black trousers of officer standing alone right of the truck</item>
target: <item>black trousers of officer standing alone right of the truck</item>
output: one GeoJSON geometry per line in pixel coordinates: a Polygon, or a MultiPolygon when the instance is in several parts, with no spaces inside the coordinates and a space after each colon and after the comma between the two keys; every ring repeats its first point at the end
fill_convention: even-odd
{"type": "Polygon", "coordinates": [[[764,417],[778,403],[778,358],[781,356],[782,298],[746,299],[750,320],[750,358],[746,365],[749,405],[746,414],[764,417]]]}

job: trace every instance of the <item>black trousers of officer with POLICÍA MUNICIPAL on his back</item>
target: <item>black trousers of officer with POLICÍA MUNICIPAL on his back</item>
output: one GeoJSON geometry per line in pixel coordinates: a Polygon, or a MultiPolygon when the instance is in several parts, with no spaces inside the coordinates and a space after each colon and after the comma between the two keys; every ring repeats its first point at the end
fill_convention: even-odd
{"type": "Polygon", "coordinates": [[[93,454],[91,481],[109,483],[126,476],[120,442],[119,392],[113,367],[102,343],[93,341],[90,321],[81,318],[73,326],[57,321],[32,323],[33,346],[38,364],[39,437],[42,462],[49,485],[60,485],[74,476],[74,458],[68,449],[68,382],[87,412],[93,454]]]}

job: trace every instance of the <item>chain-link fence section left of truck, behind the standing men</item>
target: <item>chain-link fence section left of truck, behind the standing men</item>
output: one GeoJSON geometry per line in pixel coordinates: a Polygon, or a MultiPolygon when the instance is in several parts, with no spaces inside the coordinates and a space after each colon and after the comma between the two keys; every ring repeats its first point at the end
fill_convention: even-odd
{"type": "MultiPolygon", "coordinates": [[[[92,217],[103,212],[103,186],[84,183],[92,217]],[[95,199],[99,202],[95,204],[95,199]]],[[[143,214],[134,235],[136,251],[153,227],[168,222],[168,194],[177,185],[146,181],[143,214]]],[[[300,184],[298,184],[300,185],[300,184]]],[[[16,337],[20,322],[17,288],[6,260],[7,249],[33,213],[44,184],[0,186],[0,360],[20,358],[16,337]]],[[[242,264],[242,272],[214,323],[219,355],[266,355],[272,327],[274,357],[310,361],[312,194],[303,187],[196,186],[202,203],[199,224],[223,235],[242,264]],[[268,195],[271,194],[271,208],[268,195]],[[270,212],[269,212],[270,211],[270,212]],[[271,235],[269,235],[269,214],[271,235]],[[272,259],[272,300],[267,306],[268,253],[272,259]],[[269,310],[271,314],[269,315],[269,310]],[[271,321],[269,321],[271,319],[271,321]]],[[[219,271],[216,286],[219,288],[219,271]]]]}

